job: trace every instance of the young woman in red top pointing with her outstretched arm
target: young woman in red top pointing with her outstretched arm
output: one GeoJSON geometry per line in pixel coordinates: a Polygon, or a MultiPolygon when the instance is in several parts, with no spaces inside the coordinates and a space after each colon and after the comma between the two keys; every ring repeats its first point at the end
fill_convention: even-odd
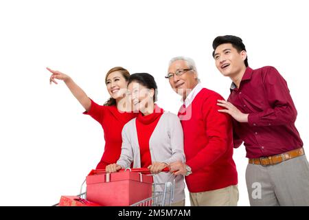
{"type": "Polygon", "coordinates": [[[73,96],[86,110],[84,114],[91,115],[101,124],[104,130],[105,147],[97,169],[105,168],[106,165],[117,162],[121,153],[122,128],[126,122],[137,116],[136,113],[132,112],[132,102],[126,101],[128,98],[124,98],[130,76],[128,70],[122,67],[114,67],[107,72],[105,84],[111,98],[102,106],[93,102],[67,74],[47,69],[52,73],[49,83],[58,84],[56,79],[63,80],[73,96]]]}

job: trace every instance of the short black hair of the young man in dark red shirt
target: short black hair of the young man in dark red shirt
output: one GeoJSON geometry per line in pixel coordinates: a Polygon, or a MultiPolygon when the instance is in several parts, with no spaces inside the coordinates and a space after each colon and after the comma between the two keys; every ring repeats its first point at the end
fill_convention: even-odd
{"type": "MultiPolygon", "coordinates": [[[[242,39],[238,36],[233,35],[225,35],[225,36],[217,36],[214,41],[212,42],[212,48],[214,48],[214,52],[212,52],[212,56],[214,57],[216,48],[223,44],[223,43],[231,43],[231,45],[238,51],[242,52],[244,50],[247,52],[246,47],[244,46],[244,43],[242,43],[242,39]]],[[[244,65],[248,67],[248,56],[244,60],[244,65]]]]}

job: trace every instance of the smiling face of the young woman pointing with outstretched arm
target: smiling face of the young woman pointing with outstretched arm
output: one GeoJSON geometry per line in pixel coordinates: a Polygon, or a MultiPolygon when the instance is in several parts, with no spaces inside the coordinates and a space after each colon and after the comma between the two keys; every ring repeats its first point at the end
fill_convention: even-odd
{"type": "Polygon", "coordinates": [[[127,80],[119,71],[111,72],[106,78],[107,91],[116,100],[124,96],[127,85],[127,80]]]}

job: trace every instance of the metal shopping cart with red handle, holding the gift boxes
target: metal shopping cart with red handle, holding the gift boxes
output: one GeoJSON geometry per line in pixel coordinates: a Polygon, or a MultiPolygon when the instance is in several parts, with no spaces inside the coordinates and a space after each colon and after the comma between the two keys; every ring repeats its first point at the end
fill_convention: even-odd
{"type": "MultiPolygon", "coordinates": [[[[104,173],[105,170],[100,170],[100,172],[104,173]]],[[[119,172],[135,172],[153,177],[152,196],[133,203],[130,206],[170,206],[174,201],[175,179],[172,173],[168,173],[168,168],[164,168],[162,170],[162,172],[168,173],[165,174],[168,175],[168,179],[164,183],[158,182],[157,175],[151,174],[148,168],[126,168],[119,170],[119,172]]],[[[106,173],[106,178],[109,178],[108,173],[106,173]]],[[[77,197],[80,197],[81,199],[87,199],[87,190],[82,192],[85,185],[86,179],[82,182],[82,186],[80,186],[80,194],[77,195],[77,197]]],[[[58,204],[59,203],[55,204],[54,206],[58,206],[58,204]]]]}

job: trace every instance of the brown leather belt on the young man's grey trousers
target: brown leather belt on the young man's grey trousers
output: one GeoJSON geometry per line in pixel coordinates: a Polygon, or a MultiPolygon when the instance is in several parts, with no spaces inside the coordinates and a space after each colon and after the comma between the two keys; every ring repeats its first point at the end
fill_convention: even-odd
{"type": "Polygon", "coordinates": [[[249,159],[249,164],[258,164],[262,166],[274,165],[274,164],[279,164],[281,162],[284,162],[285,160],[288,160],[288,159],[299,157],[304,154],[305,154],[304,148],[298,148],[293,151],[288,151],[286,153],[282,153],[278,155],[249,159]]]}

